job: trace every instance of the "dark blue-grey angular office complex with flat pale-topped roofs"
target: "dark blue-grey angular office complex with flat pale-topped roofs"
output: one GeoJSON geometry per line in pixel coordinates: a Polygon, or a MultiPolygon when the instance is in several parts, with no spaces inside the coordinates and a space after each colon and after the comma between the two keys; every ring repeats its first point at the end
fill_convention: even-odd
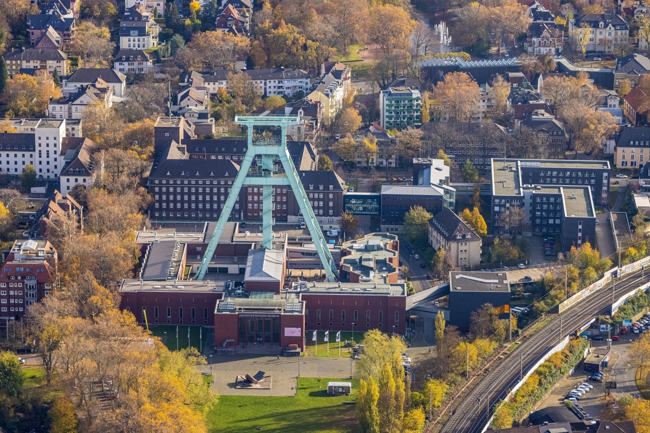
{"type": "Polygon", "coordinates": [[[609,194],[607,161],[493,159],[492,233],[558,235],[563,251],[595,241],[593,203],[609,194]],[[513,207],[523,215],[510,217],[513,207]]]}

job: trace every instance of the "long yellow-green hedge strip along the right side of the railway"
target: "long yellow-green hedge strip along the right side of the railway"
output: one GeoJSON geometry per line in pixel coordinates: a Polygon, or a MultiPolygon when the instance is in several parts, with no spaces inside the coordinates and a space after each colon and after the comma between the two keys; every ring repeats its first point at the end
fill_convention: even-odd
{"type": "Polygon", "coordinates": [[[589,342],[578,338],[569,341],[567,347],[554,353],[541,364],[535,373],[517,390],[509,402],[502,402],[513,421],[523,418],[532,407],[556,384],[564,374],[571,371],[582,360],[589,342]]]}

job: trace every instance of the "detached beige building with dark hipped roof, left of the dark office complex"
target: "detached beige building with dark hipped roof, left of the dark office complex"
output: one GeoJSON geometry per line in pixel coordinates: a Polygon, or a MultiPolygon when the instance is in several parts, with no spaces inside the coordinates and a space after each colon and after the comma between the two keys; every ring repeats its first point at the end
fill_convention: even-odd
{"type": "Polygon", "coordinates": [[[472,267],[481,262],[482,241],[458,215],[443,207],[429,220],[429,244],[442,248],[445,260],[452,267],[472,267]]]}

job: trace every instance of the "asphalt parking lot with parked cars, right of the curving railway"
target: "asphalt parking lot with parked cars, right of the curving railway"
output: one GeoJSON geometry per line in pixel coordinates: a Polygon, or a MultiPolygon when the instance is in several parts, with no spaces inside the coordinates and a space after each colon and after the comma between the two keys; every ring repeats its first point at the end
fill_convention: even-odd
{"type": "MultiPolygon", "coordinates": [[[[610,389],[610,395],[612,397],[619,397],[621,395],[641,397],[634,380],[636,369],[630,366],[630,361],[627,358],[629,345],[638,337],[638,335],[639,334],[623,334],[619,335],[619,341],[612,341],[611,358],[608,367],[603,370],[603,373],[607,378],[606,380],[616,380],[616,389],[610,389]]],[[[591,341],[591,347],[607,347],[607,341],[591,341]]],[[[593,389],[584,393],[577,403],[582,406],[584,412],[588,413],[595,419],[599,419],[604,397],[606,395],[606,389],[604,388],[604,382],[593,382],[588,380],[589,376],[591,376],[591,373],[584,371],[582,364],[578,365],[575,373],[571,374],[571,376],[567,377],[565,380],[562,380],[562,382],[553,389],[551,395],[539,404],[538,409],[564,405],[567,393],[569,393],[571,389],[575,389],[579,384],[586,382],[593,386],[593,389]]],[[[567,411],[571,413],[569,408],[567,408],[567,411]]],[[[576,421],[580,421],[577,416],[576,421]]]]}

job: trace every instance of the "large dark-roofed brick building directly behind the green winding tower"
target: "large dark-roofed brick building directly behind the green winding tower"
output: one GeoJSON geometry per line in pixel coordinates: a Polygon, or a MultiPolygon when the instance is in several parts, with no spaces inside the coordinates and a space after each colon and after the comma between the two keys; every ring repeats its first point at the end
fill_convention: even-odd
{"type": "MultiPolygon", "coordinates": [[[[153,197],[149,206],[151,220],[216,220],[226,203],[229,186],[246,153],[246,140],[191,137],[190,125],[182,120],[161,118],[156,124],[157,153],[147,185],[153,197]]],[[[334,172],[313,171],[316,153],[309,142],[287,142],[287,149],[320,226],[325,230],[337,228],[336,220],[343,211],[343,179],[334,172]]],[[[290,187],[274,188],[273,201],[276,220],[298,224],[303,221],[290,187]]],[[[231,218],[262,219],[261,186],[242,188],[231,218]]]]}

